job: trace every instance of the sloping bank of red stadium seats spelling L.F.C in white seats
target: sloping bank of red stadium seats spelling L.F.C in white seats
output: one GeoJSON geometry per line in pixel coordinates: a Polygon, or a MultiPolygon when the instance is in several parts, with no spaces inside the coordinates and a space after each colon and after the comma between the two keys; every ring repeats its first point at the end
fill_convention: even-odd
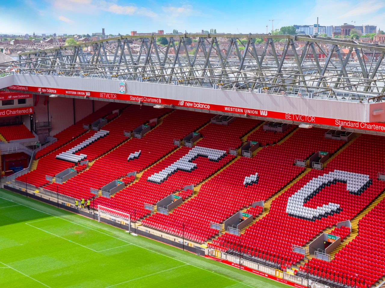
{"type": "MultiPolygon", "coordinates": [[[[367,288],[381,281],[385,204],[378,197],[385,182],[377,178],[385,164],[377,159],[385,154],[383,137],[357,134],[345,142],[326,139],[320,128],[247,118],[218,125],[210,122],[213,116],[110,103],[58,133],[57,142],[36,154],[36,169],[15,180],[94,199],[92,208],[130,214],[154,231],[330,287],[367,288]],[[107,124],[98,131],[83,127],[100,118],[107,124]],[[259,148],[244,157],[239,148],[249,141],[259,148]],[[315,155],[321,167],[314,166],[315,155]],[[49,179],[68,168],[77,175],[64,183],[49,179]],[[114,180],[123,189],[110,195],[103,187],[114,180]],[[158,203],[170,194],[182,201],[167,210],[158,203]],[[226,226],[238,212],[252,216],[251,222],[239,230],[226,226]],[[355,219],[357,231],[337,227],[355,219]],[[342,243],[330,261],[309,253],[322,233],[342,243]]],[[[12,139],[28,133],[2,134],[12,139]]]]}

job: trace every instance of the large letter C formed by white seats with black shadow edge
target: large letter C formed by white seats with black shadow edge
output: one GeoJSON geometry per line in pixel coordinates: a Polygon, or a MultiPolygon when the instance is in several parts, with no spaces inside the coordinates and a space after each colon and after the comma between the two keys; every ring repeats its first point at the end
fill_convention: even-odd
{"type": "Polygon", "coordinates": [[[322,207],[317,207],[316,209],[303,206],[303,204],[318,194],[324,187],[336,184],[336,182],[346,183],[346,190],[349,190],[349,193],[354,195],[360,195],[372,184],[369,175],[340,170],[334,170],[328,174],[320,175],[317,178],[313,177],[305,186],[289,197],[288,204],[286,205],[286,213],[293,217],[312,221],[333,215],[334,213],[339,213],[341,211],[340,204],[323,204],[322,207]]]}

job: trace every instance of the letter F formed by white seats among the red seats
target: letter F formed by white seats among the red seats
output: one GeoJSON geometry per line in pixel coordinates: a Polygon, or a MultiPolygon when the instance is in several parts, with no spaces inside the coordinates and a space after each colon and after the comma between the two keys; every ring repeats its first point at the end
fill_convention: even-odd
{"type": "Polygon", "coordinates": [[[171,174],[175,173],[178,170],[191,172],[196,168],[196,164],[191,163],[191,161],[198,156],[208,157],[211,161],[219,161],[219,159],[221,159],[224,155],[226,155],[226,151],[195,146],[186,155],[184,155],[182,158],[179,158],[179,160],[177,160],[170,166],[164,168],[158,173],[149,176],[147,178],[147,181],[160,184],[161,182],[166,180],[171,174]]]}

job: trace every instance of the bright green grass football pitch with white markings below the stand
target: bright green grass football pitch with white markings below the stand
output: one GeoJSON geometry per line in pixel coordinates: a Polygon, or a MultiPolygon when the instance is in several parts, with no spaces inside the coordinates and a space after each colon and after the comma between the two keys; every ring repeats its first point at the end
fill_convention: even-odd
{"type": "Polygon", "coordinates": [[[0,189],[0,287],[287,287],[0,189]]]}

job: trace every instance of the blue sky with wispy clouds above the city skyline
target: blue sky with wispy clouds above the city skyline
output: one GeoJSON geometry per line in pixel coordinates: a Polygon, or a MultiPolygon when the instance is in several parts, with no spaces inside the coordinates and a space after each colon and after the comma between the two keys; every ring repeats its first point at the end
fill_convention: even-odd
{"type": "Polygon", "coordinates": [[[293,24],[377,25],[385,30],[385,0],[0,0],[0,33],[107,34],[164,30],[266,33],[293,24]]]}

